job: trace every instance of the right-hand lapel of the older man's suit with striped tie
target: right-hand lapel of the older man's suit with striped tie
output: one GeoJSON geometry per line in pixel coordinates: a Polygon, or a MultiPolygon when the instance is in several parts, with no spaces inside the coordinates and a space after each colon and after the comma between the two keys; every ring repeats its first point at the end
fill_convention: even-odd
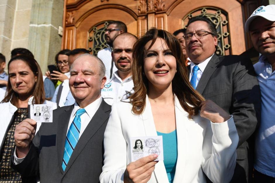
{"type": "MultiPolygon", "coordinates": [[[[111,110],[111,107],[102,100],[99,108],[97,109],[97,112],[92,117],[91,121],[85,128],[83,134],[80,136],[78,143],[75,146],[75,149],[73,150],[73,154],[71,155],[71,158],[68,162],[68,165],[66,166],[65,172],[63,176],[68,172],[71,165],[75,161],[75,159],[79,156],[87,142],[94,136],[94,134],[97,132],[97,130],[103,125],[103,123],[109,118],[108,111],[111,110]]],[[[65,141],[64,141],[65,144],[65,141]]],[[[64,145],[63,145],[64,147],[64,145]]]]}

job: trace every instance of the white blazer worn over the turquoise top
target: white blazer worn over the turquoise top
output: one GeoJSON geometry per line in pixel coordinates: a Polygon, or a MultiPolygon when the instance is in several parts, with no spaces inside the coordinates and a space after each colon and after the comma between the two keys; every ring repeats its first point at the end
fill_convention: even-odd
{"type": "MultiPolygon", "coordinates": [[[[104,133],[100,182],[123,182],[126,166],[131,162],[130,137],[157,135],[148,97],[146,104],[141,115],[133,114],[132,104],[128,102],[113,104],[104,133]]],[[[206,182],[203,172],[214,183],[229,182],[236,166],[239,140],[233,117],[224,123],[212,123],[200,116],[189,120],[176,96],[175,114],[178,159],[173,182],[206,182]]],[[[163,161],[155,165],[149,180],[149,183],[157,182],[169,182],[163,161]]]]}

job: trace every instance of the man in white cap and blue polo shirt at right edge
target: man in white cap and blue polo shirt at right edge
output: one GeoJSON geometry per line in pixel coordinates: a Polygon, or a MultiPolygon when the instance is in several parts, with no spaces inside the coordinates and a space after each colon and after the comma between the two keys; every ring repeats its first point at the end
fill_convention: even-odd
{"type": "Polygon", "coordinates": [[[254,65],[262,93],[261,124],[255,141],[255,183],[275,182],[275,5],[260,6],[245,22],[261,56],[254,65]]]}

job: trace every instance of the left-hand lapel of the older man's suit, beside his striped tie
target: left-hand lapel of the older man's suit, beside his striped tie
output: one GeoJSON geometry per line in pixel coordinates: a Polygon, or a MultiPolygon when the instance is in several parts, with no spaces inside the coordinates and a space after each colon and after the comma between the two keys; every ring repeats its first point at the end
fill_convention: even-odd
{"type": "Polygon", "coordinates": [[[73,105],[69,108],[66,108],[63,113],[59,115],[57,126],[57,132],[56,132],[56,139],[57,139],[57,156],[58,156],[58,165],[61,172],[63,172],[62,169],[62,160],[64,155],[64,149],[65,149],[65,139],[67,135],[67,129],[68,124],[70,121],[71,113],[73,111],[73,105]]]}

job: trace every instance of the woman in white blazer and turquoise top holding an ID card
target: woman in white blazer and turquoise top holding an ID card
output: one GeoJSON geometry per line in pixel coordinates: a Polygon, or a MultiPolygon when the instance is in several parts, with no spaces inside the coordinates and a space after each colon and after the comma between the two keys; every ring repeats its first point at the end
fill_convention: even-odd
{"type": "Polygon", "coordinates": [[[238,145],[233,117],[204,101],[187,73],[181,45],[169,32],[152,28],[137,40],[135,93],[112,106],[100,182],[206,182],[205,175],[212,182],[231,180],[238,145]],[[130,138],[159,134],[164,161],[153,154],[131,162],[130,138]]]}

